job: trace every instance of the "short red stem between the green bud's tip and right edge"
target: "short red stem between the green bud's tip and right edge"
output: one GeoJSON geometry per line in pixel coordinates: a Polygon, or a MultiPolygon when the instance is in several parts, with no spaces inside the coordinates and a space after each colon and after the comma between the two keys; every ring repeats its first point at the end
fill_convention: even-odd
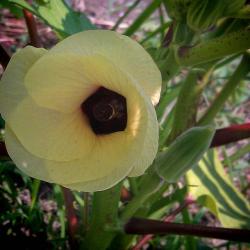
{"type": "Polygon", "coordinates": [[[250,137],[250,123],[217,129],[210,147],[218,147],[250,137]]]}

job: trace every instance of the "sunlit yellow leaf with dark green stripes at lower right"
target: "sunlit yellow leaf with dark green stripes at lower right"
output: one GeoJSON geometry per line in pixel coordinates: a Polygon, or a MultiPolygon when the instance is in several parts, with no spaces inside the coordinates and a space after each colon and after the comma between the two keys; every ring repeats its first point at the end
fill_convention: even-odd
{"type": "Polygon", "coordinates": [[[187,182],[189,193],[209,208],[223,226],[250,227],[250,205],[225,173],[215,150],[210,150],[187,173],[187,182]]]}

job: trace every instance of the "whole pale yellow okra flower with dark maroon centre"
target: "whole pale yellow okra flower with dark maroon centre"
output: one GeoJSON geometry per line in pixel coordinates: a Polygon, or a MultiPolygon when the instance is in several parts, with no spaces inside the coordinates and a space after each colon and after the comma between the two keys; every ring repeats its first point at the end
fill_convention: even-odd
{"type": "Polygon", "coordinates": [[[147,52],[112,31],[27,46],[0,83],[8,153],[26,174],[79,191],[139,176],[157,152],[160,88],[147,52]]]}

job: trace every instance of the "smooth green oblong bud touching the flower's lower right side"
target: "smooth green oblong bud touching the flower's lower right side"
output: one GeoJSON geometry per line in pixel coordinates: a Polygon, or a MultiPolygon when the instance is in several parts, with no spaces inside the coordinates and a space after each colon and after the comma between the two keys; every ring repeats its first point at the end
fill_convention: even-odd
{"type": "Polygon", "coordinates": [[[181,134],[157,157],[158,174],[169,183],[176,182],[198,163],[209,148],[213,135],[211,126],[194,127],[181,134]]]}

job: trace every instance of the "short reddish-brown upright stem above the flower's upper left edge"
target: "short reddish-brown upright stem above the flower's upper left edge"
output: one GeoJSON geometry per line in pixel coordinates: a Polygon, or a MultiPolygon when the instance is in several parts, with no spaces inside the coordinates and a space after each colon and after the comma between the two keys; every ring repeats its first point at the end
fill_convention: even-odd
{"type": "Polygon", "coordinates": [[[29,32],[30,44],[40,48],[42,47],[41,40],[38,35],[36,21],[32,13],[28,10],[23,10],[24,18],[29,32]]]}

